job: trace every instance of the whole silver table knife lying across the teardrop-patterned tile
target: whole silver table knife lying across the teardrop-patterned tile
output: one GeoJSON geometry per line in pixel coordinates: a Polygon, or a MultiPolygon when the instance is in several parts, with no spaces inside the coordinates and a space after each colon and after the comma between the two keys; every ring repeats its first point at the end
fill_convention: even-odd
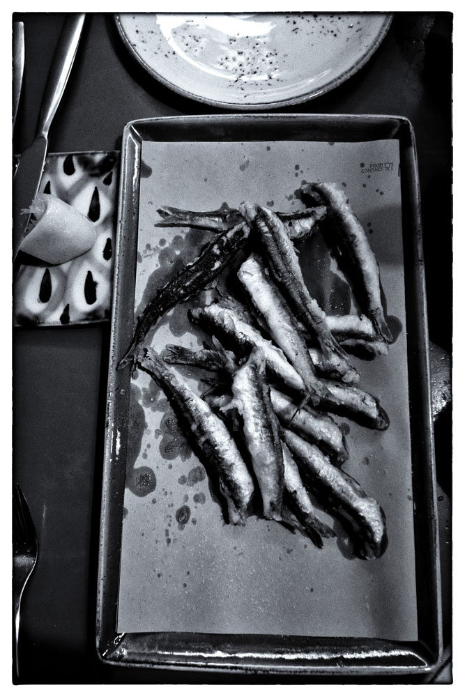
{"type": "Polygon", "coordinates": [[[38,192],[47,155],[48,133],[65,91],[81,38],[85,13],[70,14],[61,30],[40,107],[33,144],[22,153],[13,178],[13,262],[31,217],[27,211],[38,192]]]}

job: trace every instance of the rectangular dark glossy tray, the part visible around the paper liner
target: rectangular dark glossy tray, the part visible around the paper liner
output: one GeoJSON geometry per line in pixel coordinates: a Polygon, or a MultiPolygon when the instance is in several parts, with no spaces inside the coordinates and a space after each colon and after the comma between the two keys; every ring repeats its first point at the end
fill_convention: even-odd
{"type": "Polygon", "coordinates": [[[132,121],[123,134],[110,346],[96,639],[102,661],[231,673],[354,677],[434,670],[441,653],[439,544],[420,194],[411,123],[400,116],[250,114],[132,121]],[[397,139],[402,164],[406,328],[409,369],[418,641],[186,634],[116,634],[130,374],[116,365],[133,331],[139,181],[143,141],[397,139]]]}

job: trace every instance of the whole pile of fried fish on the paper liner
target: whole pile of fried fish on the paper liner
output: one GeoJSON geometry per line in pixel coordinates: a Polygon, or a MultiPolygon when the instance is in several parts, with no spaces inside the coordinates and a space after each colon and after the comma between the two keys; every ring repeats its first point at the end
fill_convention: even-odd
{"type": "Polygon", "coordinates": [[[335,537],[323,510],[342,522],[357,556],[374,559],[388,542],[385,515],[342,469],[349,454],[332,415],[371,429],[389,425],[379,401],[357,386],[360,376],[349,358],[360,351],[386,355],[392,342],[379,267],[341,187],[312,183],[302,194],[308,205],[299,213],[248,201],[200,213],[158,209],[164,227],[215,234],[148,302],[119,368],[140,367],[165,391],[218,485],[229,523],[258,514],[321,547],[323,538],[335,537]],[[314,229],[349,273],[359,314],[330,316],[307,288],[296,241],[314,229]],[[222,294],[189,312],[212,337],[211,346],[155,352],[148,337],[158,319],[224,271],[236,275],[241,300],[222,294]],[[197,395],[169,367],[176,363],[211,371],[214,387],[197,395]]]}

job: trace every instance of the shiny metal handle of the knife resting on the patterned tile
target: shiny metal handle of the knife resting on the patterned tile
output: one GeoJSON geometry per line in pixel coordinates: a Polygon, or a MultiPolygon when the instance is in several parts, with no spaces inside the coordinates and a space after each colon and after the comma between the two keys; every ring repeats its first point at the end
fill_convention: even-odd
{"type": "Polygon", "coordinates": [[[68,15],[63,23],[63,29],[61,29],[45,85],[37,127],[37,135],[43,135],[45,138],[47,138],[73,67],[85,16],[85,13],[68,15]]]}

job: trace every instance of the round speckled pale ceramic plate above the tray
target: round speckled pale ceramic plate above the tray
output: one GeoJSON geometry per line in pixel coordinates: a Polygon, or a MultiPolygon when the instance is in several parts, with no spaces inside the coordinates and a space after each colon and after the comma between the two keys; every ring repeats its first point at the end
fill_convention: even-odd
{"type": "Polygon", "coordinates": [[[351,77],[389,29],[384,13],[125,13],[116,25],[148,72],[220,107],[312,99],[351,77]]]}

